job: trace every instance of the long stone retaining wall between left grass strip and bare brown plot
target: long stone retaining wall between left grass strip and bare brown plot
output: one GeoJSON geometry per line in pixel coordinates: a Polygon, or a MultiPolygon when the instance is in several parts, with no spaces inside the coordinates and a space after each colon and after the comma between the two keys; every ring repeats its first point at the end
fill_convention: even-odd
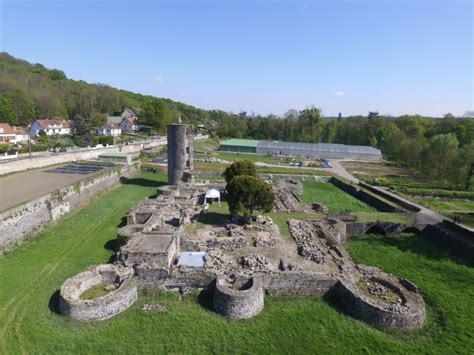
{"type": "Polygon", "coordinates": [[[134,176],[137,164],[115,166],[91,174],[84,180],[48,193],[31,202],[0,213],[0,254],[20,244],[26,236],[55,222],[120,182],[134,176]]]}

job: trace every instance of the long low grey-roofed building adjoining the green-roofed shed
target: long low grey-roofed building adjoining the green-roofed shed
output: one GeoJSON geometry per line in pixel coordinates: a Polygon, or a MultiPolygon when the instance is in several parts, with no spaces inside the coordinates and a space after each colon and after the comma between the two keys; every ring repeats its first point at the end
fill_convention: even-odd
{"type": "Polygon", "coordinates": [[[365,145],[345,145],[334,143],[260,141],[257,145],[257,153],[327,159],[372,161],[382,159],[382,153],[379,149],[365,145]]]}

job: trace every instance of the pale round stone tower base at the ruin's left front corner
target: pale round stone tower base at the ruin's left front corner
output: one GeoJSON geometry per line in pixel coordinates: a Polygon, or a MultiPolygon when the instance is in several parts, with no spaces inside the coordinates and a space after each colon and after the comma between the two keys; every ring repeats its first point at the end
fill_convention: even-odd
{"type": "Polygon", "coordinates": [[[61,286],[59,309],[62,314],[83,321],[111,318],[129,308],[138,297],[133,270],[114,264],[99,265],[67,279],[61,286]],[[104,286],[107,293],[82,299],[86,291],[104,286]]]}

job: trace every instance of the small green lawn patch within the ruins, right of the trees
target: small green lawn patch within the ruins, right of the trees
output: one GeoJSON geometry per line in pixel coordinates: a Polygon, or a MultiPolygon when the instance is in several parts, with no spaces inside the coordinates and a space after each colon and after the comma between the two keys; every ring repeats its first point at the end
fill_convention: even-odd
{"type": "Polygon", "coordinates": [[[305,182],[301,201],[322,203],[330,212],[376,212],[374,208],[327,182],[305,182]]]}

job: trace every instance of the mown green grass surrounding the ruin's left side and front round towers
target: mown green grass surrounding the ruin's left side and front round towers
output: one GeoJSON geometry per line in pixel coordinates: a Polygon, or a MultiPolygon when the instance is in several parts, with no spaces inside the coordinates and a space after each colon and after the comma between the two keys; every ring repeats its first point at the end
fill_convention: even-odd
{"type": "Polygon", "coordinates": [[[368,265],[415,282],[428,305],[426,326],[408,335],[356,321],[320,298],[265,297],[254,319],[230,322],[210,298],[142,292],[131,309],[99,323],[57,314],[63,281],[114,254],[129,208],[153,195],[163,175],[142,174],[0,257],[0,353],[472,353],[474,270],[428,241],[366,236],[349,244],[368,265]],[[144,313],[160,303],[166,313],[144,313]]]}

